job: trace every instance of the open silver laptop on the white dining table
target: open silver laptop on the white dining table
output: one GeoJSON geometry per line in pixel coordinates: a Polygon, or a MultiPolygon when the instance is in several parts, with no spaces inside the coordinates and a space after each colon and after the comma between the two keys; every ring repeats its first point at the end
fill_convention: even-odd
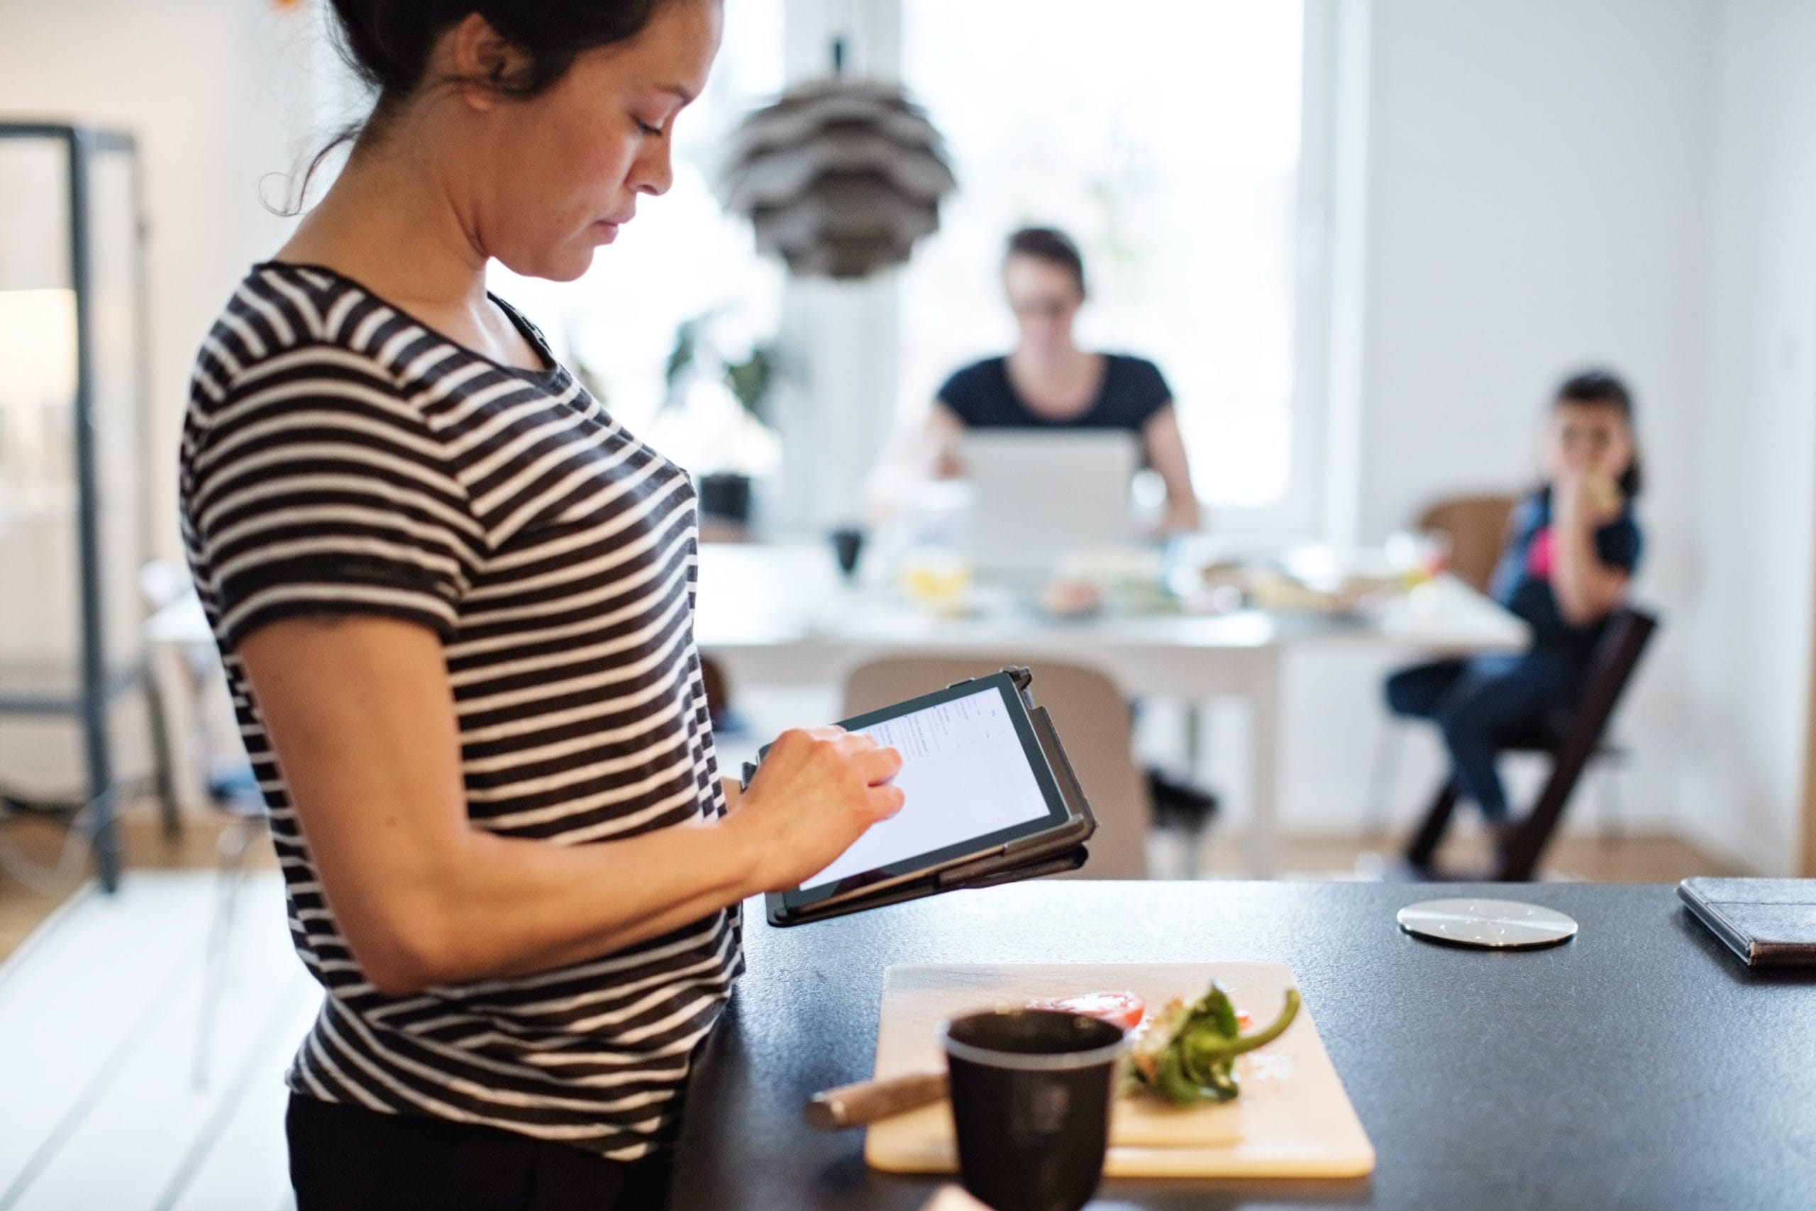
{"type": "Polygon", "coordinates": [[[979,572],[1051,572],[1066,552],[1124,546],[1133,537],[1135,434],[973,430],[959,439],[959,459],[972,483],[972,566],[979,572]]]}

